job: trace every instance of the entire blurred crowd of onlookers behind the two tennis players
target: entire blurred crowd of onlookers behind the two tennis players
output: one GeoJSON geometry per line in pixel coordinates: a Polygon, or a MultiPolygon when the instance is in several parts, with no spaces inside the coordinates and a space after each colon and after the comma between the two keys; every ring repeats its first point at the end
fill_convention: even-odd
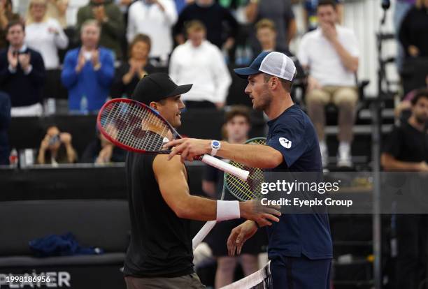
{"type": "MultiPolygon", "coordinates": [[[[361,40],[341,25],[341,1],[301,0],[307,33],[293,52],[297,21],[292,5],[297,1],[69,1],[29,0],[25,15],[18,15],[11,0],[0,0],[0,165],[9,161],[10,117],[43,115],[43,100],[55,98],[45,94],[55,73],[68,91],[70,114],[93,114],[108,98],[130,98],[138,81],[159,68],[167,69],[177,84],[193,83],[182,96],[187,109],[222,110],[232,82],[228,66],[248,65],[260,52],[275,50],[295,59],[304,80],[304,104],[318,133],[323,166],[329,165],[324,108],[332,104],[338,108],[337,165],[352,167],[361,40]]],[[[428,0],[397,0],[394,26],[404,91],[398,109],[411,115],[394,128],[381,161],[385,170],[428,171],[428,142],[421,141],[426,138],[428,91],[416,90],[428,87],[428,0]]],[[[248,111],[234,108],[227,114],[224,139],[243,143],[249,130],[248,111]]],[[[110,163],[122,162],[124,156],[99,131],[78,156],[73,136],[49,126],[36,163],[110,163]]],[[[221,176],[208,168],[204,191],[215,198],[219,184],[221,176]]],[[[418,232],[425,230],[427,220],[413,216],[397,222],[399,244],[414,244],[399,253],[400,288],[415,288],[409,284],[420,278],[415,275],[422,262],[415,257],[422,248],[418,232]]],[[[220,243],[225,244],[213,242],[220,243]]],[[[224,248],[213,245],[213,251],[220,287],[232,281],[238,260],[227,257],[224,248]]],[[[257,268],[257,253],[253,248],[243,255],[245,274],[257,268]]]]}

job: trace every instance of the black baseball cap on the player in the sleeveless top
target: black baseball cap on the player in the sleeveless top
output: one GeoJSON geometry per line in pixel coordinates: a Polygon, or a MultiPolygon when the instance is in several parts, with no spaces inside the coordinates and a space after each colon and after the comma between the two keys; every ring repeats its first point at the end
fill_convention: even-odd
{"type": "Polygon", "coordinates": [[[193,84],[177,85],[167,73],[151,73],[145,75],[136,85],[132,99],[145,105],[152,101],[160,101],[170,96],[185,94],[193,84]]]}

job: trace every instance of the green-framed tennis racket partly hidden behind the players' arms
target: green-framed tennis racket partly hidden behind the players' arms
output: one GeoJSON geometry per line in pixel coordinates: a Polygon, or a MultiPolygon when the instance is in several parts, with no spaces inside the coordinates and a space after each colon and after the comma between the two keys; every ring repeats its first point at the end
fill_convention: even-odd
{"type": "MultiPolygon", "coordinates": [[[[266,144],[266,138],[252,138],[247,140],[245,144],[266,144]]],[[[236,199],[240,201],[253,200],[262,196],[261,186],[264,181],[263,170],[260,168],[250,168],[242,163],[237,163],[236,161],[231,161],[229,165],[233,165],[236,168],[241,170],[248,170],[250,175],[246,181],[239,179],[238,177],[231,175],[227,172],[224,172],[224,182],[223,182],[223,191],[221,200],[224,198],[225,191],[229,191],[236,199]]],[[[204,241],[205,237],[209,232],[214,228],[217,221],[208,221],[205,223],[204,227],[199,230],[197,235],[192,239],[193,249],[201,244],[204,241]]]]}

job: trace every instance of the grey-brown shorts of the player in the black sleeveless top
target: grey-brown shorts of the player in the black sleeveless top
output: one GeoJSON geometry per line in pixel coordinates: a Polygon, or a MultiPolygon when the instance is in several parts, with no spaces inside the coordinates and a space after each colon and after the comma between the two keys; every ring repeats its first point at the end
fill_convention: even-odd
{"type": "Polygon", "coordinates": [[[136,278],[125,277],[127,289],[203,289],[205,286],[196,273],[173,277],[136,278]]]}

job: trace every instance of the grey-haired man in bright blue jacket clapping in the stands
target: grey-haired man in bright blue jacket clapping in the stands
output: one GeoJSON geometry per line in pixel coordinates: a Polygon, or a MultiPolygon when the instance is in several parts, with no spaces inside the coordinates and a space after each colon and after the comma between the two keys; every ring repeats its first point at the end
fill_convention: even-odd
{"type": "Polygon", "coordinates": [[[100,27],[96,20],[82,24],[82,47],[67,52],[62,84],[69,90],[69,110],[95,112],[106,102],[115,68],[113,53],[99,47],[100,27]]]}

